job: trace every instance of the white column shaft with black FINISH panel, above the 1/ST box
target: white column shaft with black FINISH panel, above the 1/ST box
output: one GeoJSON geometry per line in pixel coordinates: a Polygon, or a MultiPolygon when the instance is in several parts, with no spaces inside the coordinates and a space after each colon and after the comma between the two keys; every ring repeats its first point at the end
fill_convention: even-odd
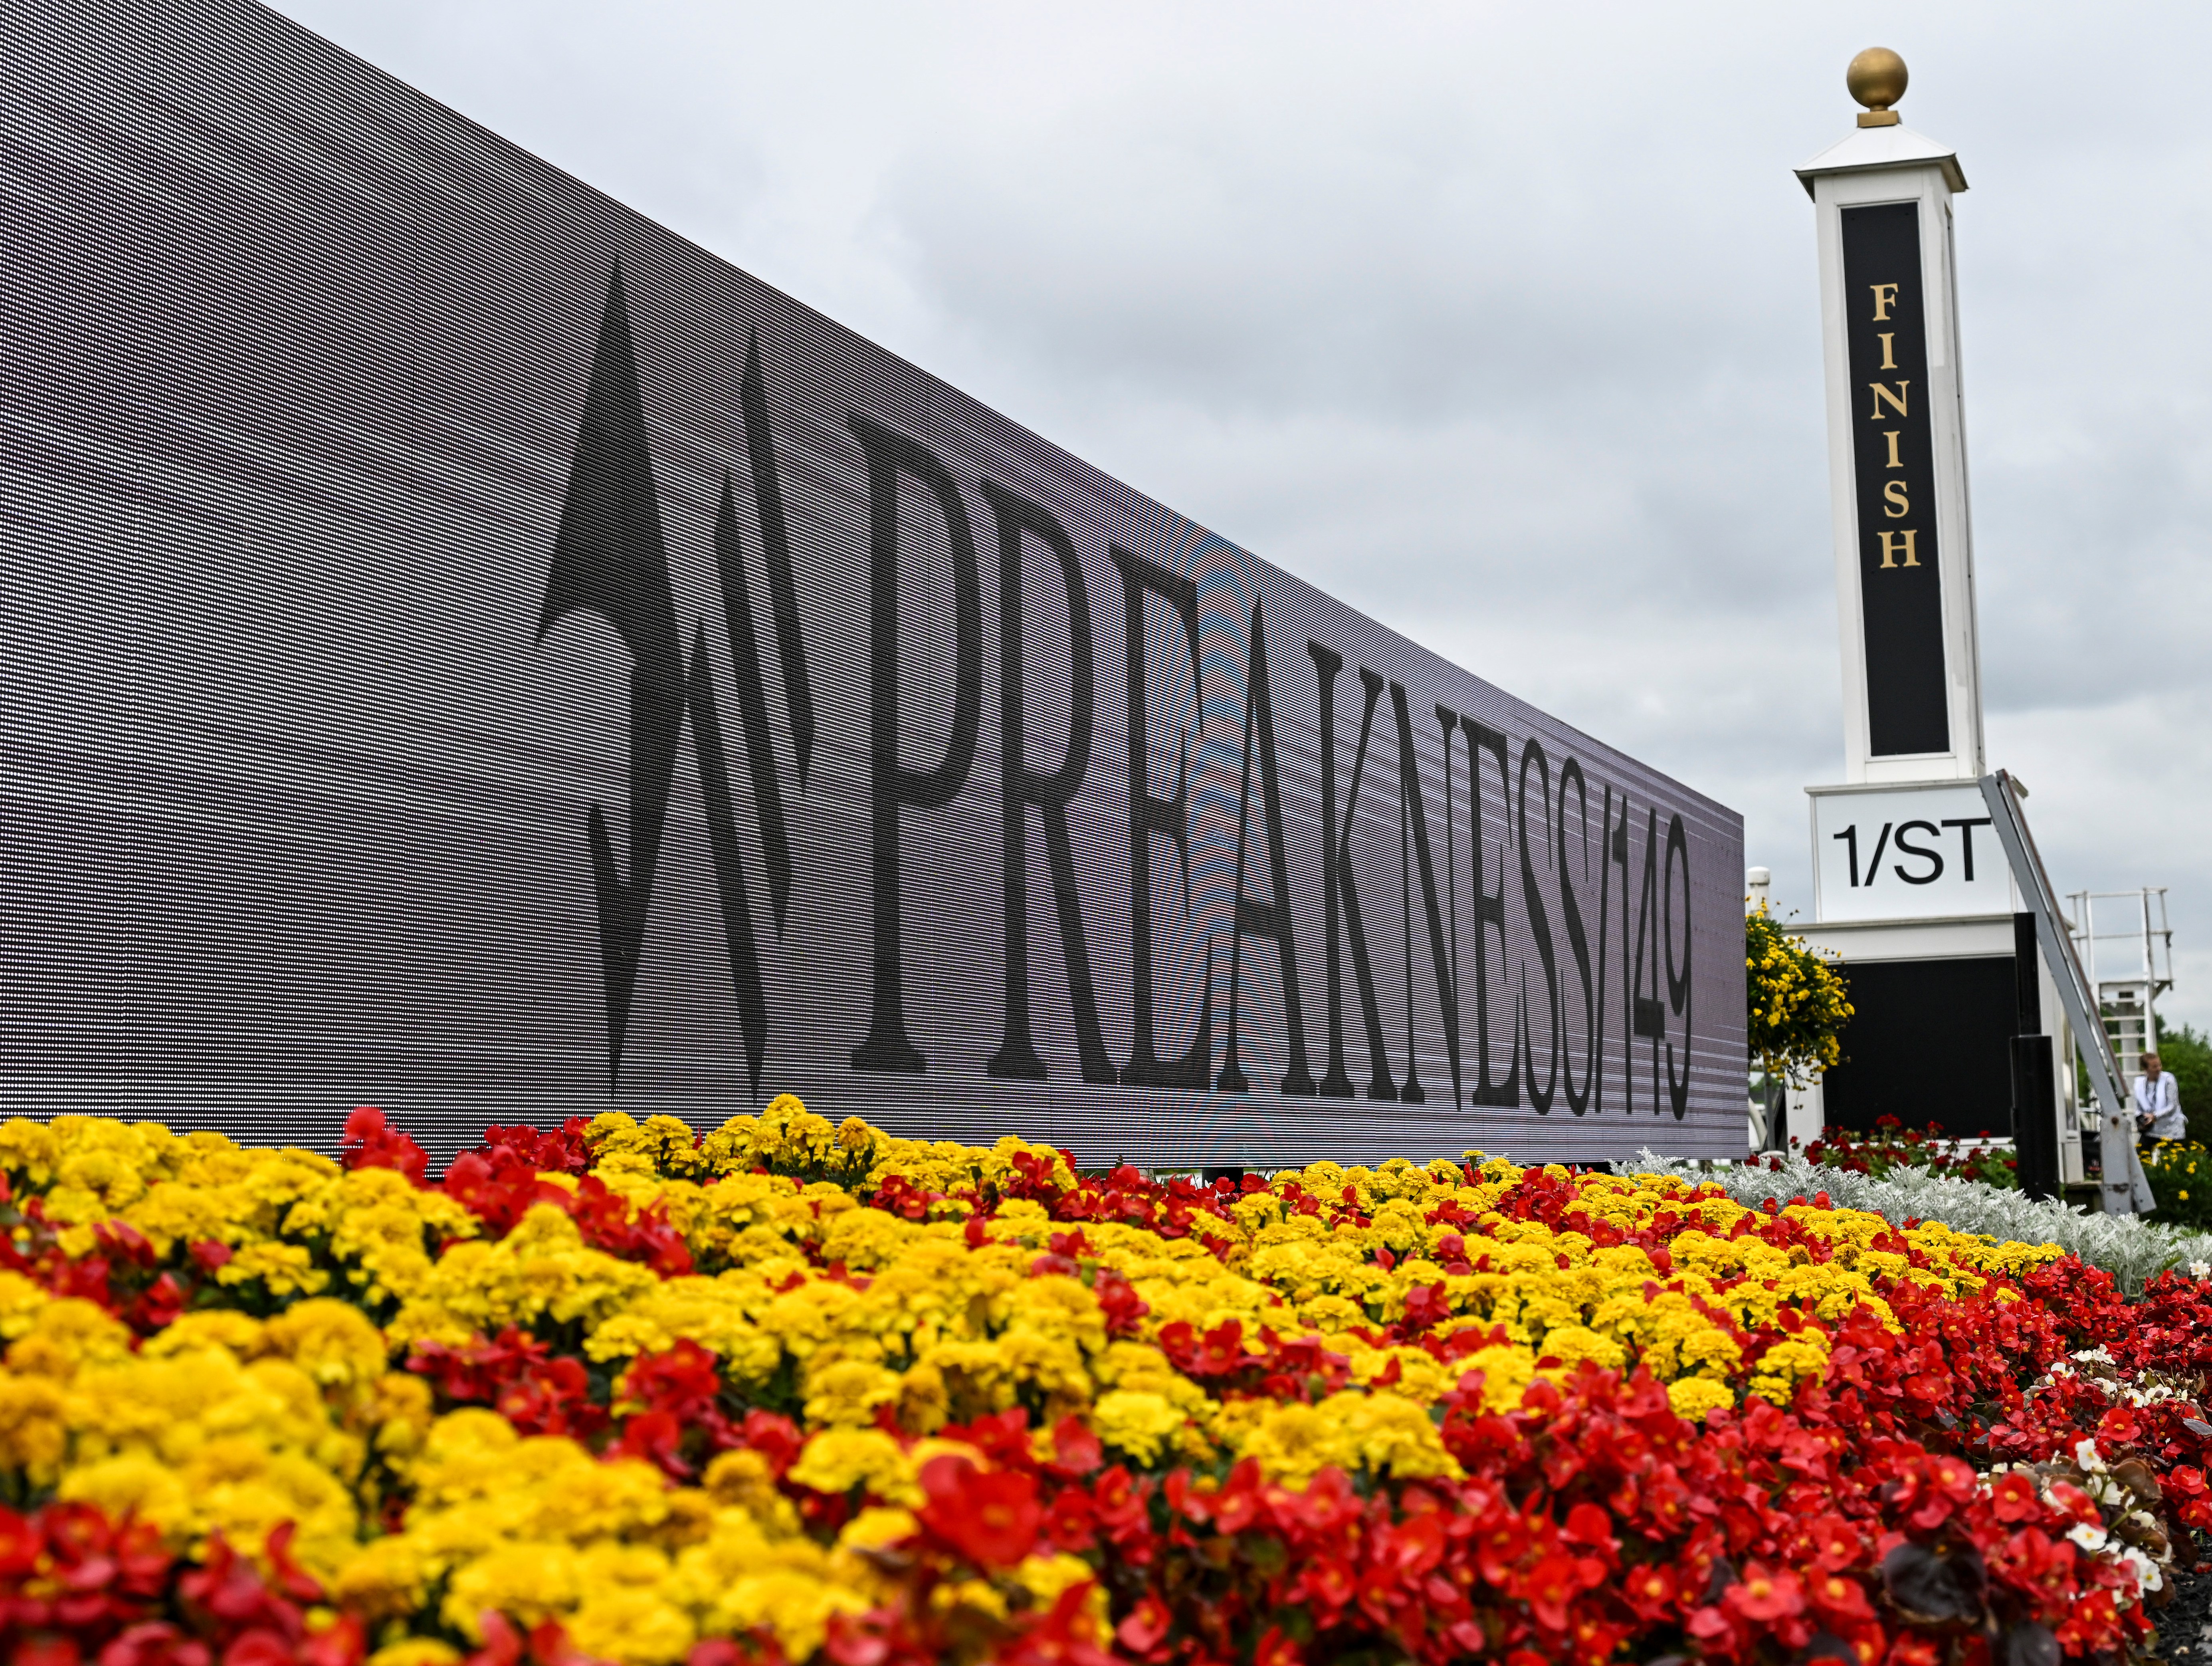
{"type": "MultiPolygon", "coordinates": [[[[1898,95],[1902,82],[1896,62],[1898,95]]],[[[1796,170],[1820,246],[1845,779],[1975,781],[1982,668],[1951,259],[1966,175],[1891,111],[1871,115],[1882,119],[1860,117],[1796,170]]]]}

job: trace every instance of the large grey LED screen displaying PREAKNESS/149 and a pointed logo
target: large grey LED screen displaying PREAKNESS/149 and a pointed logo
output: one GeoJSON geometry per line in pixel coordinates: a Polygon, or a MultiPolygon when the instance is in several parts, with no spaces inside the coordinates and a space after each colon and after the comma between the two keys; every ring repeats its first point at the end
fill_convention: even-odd
{"type": "Polygon", "coordinates": [[[259,7],[9,29],[7,1108],[1743,1150],[1734,812],[259,7]]]}

